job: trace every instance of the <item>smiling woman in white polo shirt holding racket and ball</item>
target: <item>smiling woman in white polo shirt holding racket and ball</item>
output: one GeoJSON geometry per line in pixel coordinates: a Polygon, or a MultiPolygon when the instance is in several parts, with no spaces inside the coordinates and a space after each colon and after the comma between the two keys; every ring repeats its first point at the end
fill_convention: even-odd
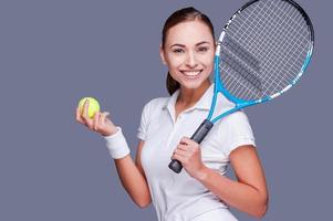
{"type": "MultiPolygon", "coordinates": [[[[105,137],[134,202],[144,208],[153,201],[160,221],[236,220],[228,206],[258,218],[267,211],[266,179],[242,112],[216,123],[200,146],[188,138],[209,112],[215,46],[212,24],[196,9],[180,9],[166,20],[160,57],[169,70],[171,96],[145,105],[135,162],[108,113],[90,119],[89,103],[83,112],[76,109],[77,122],[105,137]],[[183,164],[180,173],[168,168],[170,158],[183,164]],[[237,180],[223,176],[229,162],[237,180]]],[[[222,97],[217,105],[222,109],[229,104],[222,97]]]]}

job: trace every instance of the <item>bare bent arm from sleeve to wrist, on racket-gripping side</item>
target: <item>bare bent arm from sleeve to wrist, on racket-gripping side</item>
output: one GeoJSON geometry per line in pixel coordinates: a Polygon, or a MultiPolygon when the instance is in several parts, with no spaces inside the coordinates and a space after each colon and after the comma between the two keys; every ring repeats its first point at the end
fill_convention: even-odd
{"type": "Polygon", "coordinates": [[[241,146],[230,154],[237,181],[207,167],[198,180],[227,204],[261,218],[268,209],[268,190],[264,173],[256,148],[241,146]]]}

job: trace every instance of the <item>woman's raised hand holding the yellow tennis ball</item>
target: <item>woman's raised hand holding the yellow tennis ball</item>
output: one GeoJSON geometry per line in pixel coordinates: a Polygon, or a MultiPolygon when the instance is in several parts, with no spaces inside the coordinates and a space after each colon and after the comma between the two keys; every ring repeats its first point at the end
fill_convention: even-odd
{"type": "Polygon", "coordinates": [[[110,136],[117,131],[116,126],[107,118],[108,112],[96,112],[94,118],[90,118],[87,115],[89,101],[86,99],[81,110],[76,108],[76,120],[80,124],[89,127],[91,130],[101,134],[102,136],[110,136]]]}

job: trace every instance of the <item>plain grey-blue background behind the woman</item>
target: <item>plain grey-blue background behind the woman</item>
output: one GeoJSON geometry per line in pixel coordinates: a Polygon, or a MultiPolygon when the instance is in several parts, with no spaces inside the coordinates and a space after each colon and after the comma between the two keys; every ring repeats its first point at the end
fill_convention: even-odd
{"type": "MultiPolygon", "coordinates": [[[[194,6],[218,33],[243,3],[1,0],[0,220],[156,220],[122,188],[101,136],[75,122],[77,101],[97,97],[134,157],[144,104],[167,95],[158,55],[165,19],[194,6]]],[[[263,220],[331,218],[333,3],[299,3],[315,27],[311,65],[295,88],[247,109],[270,190],[263,220]]]]}

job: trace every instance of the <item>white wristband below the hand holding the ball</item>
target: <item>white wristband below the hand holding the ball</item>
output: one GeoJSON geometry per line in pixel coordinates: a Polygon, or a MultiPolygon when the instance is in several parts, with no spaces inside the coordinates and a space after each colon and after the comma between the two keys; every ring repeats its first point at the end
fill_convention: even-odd
{"type": "Polygon", "coordinates": [[[112,158],[119,159],[129,155],[129,148],[121,127],[117,127],[117,131],[115,134],[104,138],[112,158]]]}

